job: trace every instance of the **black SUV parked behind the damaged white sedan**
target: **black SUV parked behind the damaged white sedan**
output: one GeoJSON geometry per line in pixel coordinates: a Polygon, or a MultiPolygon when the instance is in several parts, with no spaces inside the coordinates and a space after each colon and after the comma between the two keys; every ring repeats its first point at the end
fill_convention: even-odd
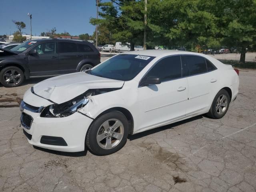
{"type": "Polygon", "coordinates": [[[5,87],[20,86],[25,78],[88,70],[100,63],[93,44],[80,40],[38,39],[0,50],[0,82],[5,87]]]}

